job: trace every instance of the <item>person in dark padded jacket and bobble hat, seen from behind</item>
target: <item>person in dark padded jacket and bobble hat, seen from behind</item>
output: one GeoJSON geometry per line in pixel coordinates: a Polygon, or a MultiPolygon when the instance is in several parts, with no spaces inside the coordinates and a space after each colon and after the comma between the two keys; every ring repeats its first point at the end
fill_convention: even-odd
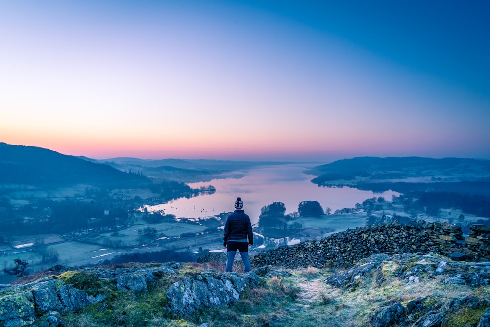
{"type": "Polygon", "coordinates": [[[244,204],[240,197],[235,201],[235,212],[232,212],[224,225],[224,246],[227,247],[226,271],[231,272],[237,250],[240,252],[245,273],[249,272],[250,258],[248,247],[253,245],[252,224],[250,217],[243,210],[244,204]]]}

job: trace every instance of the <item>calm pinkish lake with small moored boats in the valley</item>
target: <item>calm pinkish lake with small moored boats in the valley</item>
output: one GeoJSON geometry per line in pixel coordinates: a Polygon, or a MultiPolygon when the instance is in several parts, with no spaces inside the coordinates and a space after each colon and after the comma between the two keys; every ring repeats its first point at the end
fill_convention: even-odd
{"type": "Polygon", "coordinates": [[[194,198],[180,198],[165,204],[148,206],[148,211],[164,210],[166,214],[177,217],[202,218],[235,210],[237,197],[244,202],[244,210],[255,224],[260,215],[260,209],[273,202],[282,202],[286,213],[298,211],[301,201],[318,201],[325,209],[329,207],[334,213],[337,209],[352,208],[356,203],[382,196],[391,200],[392,195],[399,193],[387,191],[373,193],[349,187],[319,187],[311,182],[314,175],[304,172],[317,164],[287,164],[259,166],[244,171],[246,176],[241,178],[213,179],[208,182],[190,183],[192,188],[213,185],[216,192],[203,194],[194,198]]]}

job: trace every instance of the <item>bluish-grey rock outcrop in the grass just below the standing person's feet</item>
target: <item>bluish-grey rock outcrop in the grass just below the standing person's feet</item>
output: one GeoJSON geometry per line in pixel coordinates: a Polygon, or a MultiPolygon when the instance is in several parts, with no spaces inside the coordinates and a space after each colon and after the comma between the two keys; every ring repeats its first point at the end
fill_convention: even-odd
{"type": "Polygon", "coordinates": [[[167,290],[172,313],[187,315],[202,307],[229,305],[246,287],[261,284],[254,272],[243,275],[204,271],[194,278],[184,277],[167,290]]]}

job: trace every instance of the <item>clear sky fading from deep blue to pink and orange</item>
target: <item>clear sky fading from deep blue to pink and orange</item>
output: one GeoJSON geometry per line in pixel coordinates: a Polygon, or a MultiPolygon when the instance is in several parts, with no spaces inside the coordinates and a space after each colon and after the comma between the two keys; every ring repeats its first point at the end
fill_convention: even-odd
{"type": "Polygon", "coordinates": [[[0,0],[0,142],[490,159],[490,1],[0,0]]]}

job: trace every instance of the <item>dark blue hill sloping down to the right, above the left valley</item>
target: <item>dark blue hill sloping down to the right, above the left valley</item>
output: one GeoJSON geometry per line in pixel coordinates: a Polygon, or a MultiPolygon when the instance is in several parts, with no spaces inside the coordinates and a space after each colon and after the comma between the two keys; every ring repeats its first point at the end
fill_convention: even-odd
{"type": "Polygon", "coordinates": [[[146,176],[125,173],[36,146],[0,143],[0,184],[35,186],[90,184],[122,187],[149,183],[146,176]]]}

